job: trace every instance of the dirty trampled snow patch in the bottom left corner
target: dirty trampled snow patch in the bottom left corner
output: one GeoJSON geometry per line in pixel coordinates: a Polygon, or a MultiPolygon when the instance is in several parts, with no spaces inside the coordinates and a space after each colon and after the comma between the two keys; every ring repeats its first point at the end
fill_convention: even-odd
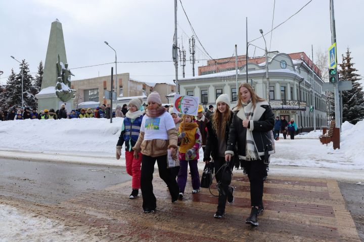
{"type": "Polygon", "coordinates": [[[57,220],[0,204],[0,241],[99,241],[57,220]]]}

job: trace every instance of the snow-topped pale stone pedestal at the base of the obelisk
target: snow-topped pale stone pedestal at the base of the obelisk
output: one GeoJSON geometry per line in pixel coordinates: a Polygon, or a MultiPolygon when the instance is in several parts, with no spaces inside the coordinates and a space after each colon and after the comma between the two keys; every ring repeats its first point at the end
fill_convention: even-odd
{"type": "Polygon", "coordinates": [[[44,88],[38,94],[36,94],[35,97],[38,99],[38,112],[44,109],[50,110],[51,108],[55,109],[56,111],[57,109],[60,109],[61,105],[64,103],[66,104],[66,109],[68,112],[70,112],[74,108],[74,99],[63,102],[56,95],[56,87],[44,88]]]}

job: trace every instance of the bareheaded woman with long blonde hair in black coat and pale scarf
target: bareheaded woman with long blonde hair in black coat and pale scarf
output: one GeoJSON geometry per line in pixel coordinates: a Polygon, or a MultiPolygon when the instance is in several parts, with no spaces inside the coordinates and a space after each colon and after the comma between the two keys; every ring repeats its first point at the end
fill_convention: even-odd
{"type": "Polygon", "coordinates": [[[248,83],[239,87],[238,106],[230,126],[225,160],[230,161],[235,146],[243,160],[250,181],[251,214],[246,223],[258,226],[257,216],[263,212],[263,177],[269,155],[274,153],[271,130],[275,115],[269,103],[258,97],[248,83]]]}

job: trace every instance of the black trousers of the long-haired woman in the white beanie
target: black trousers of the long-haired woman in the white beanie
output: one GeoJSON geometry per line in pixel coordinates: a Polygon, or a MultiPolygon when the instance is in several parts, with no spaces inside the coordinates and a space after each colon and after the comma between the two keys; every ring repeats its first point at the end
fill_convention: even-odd
{"type": "MultiPolygon", "coordinates": [[[[221,166],[225,164],[225,157],[218,157],[217,159],[214,159],[214,165],[215,165],[215,178],[217,183],[220,183],[221,181],[221,166]]],[[[230,161],[229,163],[230,169],[232,170],[234,167],[234,161],[230,161]]],[[[225,212],[225,206],[226,206],[226,200],[228,197],[233,196],[233,188],[229,186],[230,184],[220,184],[219,185],[219,197],[217,201],[217,211],[224,213],[225,212]]]]}

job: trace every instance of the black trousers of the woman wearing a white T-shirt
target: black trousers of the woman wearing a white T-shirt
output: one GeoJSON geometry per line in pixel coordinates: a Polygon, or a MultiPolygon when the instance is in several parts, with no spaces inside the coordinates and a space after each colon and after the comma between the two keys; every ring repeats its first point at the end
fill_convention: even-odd
{"type": "Polygon", "coordinates": [[[159,176],[167,184],[172,201],[177,200],[179,187],[175,176],[167,169],[167,155],[151,157],[143,155],[141,171],[141,190],[143,196],[143,209],[155,209],[157,207],[156,197],[153,193],[153,172],[157,160],[159,176]]]}

